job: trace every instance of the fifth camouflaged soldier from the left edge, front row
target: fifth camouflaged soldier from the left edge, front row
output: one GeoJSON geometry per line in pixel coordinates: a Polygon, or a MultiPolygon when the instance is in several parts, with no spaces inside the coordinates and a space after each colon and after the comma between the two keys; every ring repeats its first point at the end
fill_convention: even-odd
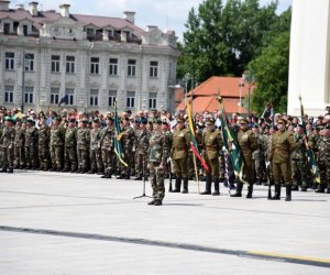
{"type": "Polygon", "coordinates": [[[51,158],[52,158],[52,170],[62,170],[63,166],[63,148],[64,148],[64,138],[65,129],[59,127],[61,118],[55,117],[51,127],[51,158]]]}

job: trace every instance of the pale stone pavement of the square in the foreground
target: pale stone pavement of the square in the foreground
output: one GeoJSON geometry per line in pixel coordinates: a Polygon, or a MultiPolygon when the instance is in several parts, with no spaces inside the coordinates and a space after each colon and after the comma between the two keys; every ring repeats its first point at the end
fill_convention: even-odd
{"type": "Polygon", "coordinates": [[[191,183],[155,207],[133,199],[142,182],[0,174],[0,274],[330,274],[330,195],[255,189],[200,196],[191,183]]]}

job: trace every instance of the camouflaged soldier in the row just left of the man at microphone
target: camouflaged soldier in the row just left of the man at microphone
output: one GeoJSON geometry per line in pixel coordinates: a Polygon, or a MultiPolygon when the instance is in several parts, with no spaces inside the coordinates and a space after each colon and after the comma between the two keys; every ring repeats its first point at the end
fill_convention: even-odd
{"type": "Polygon", "coordinates": [[[147,150],[148,150],[148,139],[150,131],[146,130],[147,119],[139,119],[139,129],[135,130],[135,170],[136,178],[135,180],[141,180],[145,176],[146,165],[147,165],[147,150]]]}

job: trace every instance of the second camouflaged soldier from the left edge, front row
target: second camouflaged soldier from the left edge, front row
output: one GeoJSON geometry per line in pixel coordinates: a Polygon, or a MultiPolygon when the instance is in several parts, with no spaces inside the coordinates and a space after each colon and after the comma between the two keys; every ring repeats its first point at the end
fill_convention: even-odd
{"type": "Polygon", "coordinates": [[[23,125],[22,120],[16,118],[15,125],[15,147],[14,147],[14,168],[23,169],[25,167],[25,123],[23,125]]]}

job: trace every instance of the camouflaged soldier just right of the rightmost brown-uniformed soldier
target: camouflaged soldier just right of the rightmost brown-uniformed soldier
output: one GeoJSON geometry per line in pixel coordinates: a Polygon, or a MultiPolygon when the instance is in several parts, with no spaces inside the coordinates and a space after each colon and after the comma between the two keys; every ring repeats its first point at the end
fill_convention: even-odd
{"type": "Polygon", "coordinates": [[[298,186],[300,186],[301,191],[307,191],[309,165],[307,163],[306,157],[306,139],[307,138],[304,134],[304,125],[297,125],[294,133],[296,148],[292,154],[292,167],[294,178],[293,190],[298,190],[298,186]]]}

